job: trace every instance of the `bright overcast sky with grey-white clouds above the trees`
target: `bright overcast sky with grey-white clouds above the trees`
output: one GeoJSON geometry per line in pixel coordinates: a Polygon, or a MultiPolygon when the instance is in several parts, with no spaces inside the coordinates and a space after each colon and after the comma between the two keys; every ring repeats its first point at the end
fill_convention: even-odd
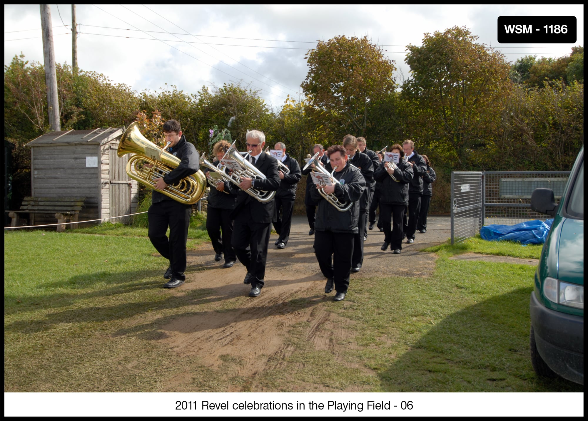
{"type": "MultiPolygon", "coordinates": [[[[583,46],[584,34],[583,6],[562,4],[76,5],[76,15],[78,66],[85,71],[139,92],[168,83],[195,93],[203,85],[242,79],[271,108],[281,107],[288,94],[298,98],[307,72],[304,56],[318,39],[367,35],[387,50],[402,82],[410,76],[405,46],[420,45],[426,32],[467,26],[479,42],[513,62],[525,55],[570,54],[572,46],[583,46]],[[497,18],[507,15],[576,16],[576,43],[498,44],[497,18]]],[[[51,18],[56,61],[71,64],[71,5],[51,5],[51,18]]],[[[5,65],[21,52],[26,60],[43,62],[39,5],[5,5],[4,31],[5,65]]]]}

